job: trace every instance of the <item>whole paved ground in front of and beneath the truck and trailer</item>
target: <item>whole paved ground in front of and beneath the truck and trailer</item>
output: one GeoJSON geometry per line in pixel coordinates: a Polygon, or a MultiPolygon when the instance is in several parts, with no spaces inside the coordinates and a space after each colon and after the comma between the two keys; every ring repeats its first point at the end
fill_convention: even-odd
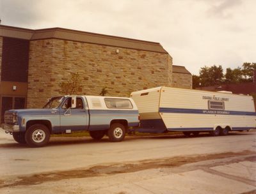
{"type": "Polygon", "coordinates": [[[255,132],[54,137],[31,148],[1,130],[0,193],[255,193],[255,132]]]}

